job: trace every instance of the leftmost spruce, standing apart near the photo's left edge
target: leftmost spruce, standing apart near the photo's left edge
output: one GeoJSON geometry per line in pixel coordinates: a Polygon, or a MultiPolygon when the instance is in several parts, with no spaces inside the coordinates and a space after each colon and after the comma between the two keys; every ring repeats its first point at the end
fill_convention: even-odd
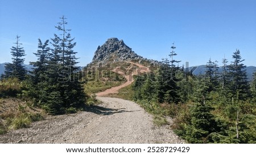
{"type": "Polygon", "coordinates": [[[24,57],[25,51],[20,47],[19,42],[20,36],[16,36],[15,46],[11,47],[11,55],[13,55],[13,63],[7,63],[5,65],[5,75],[3,78],[18,78],[19,80],[24,80],[27,74],[26,68],[24,67],[24,57]]]}

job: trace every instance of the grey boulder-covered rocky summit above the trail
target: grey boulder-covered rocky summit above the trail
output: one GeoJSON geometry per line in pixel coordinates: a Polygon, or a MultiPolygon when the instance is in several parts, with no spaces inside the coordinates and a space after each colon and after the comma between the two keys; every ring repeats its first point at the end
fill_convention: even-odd
{"type": "Polygon", "coordinates": [[[123,40],[109,38],[103,45],[98,46],[94,53],[92,63],[129,61],[130,59],[143,59],[136,54],[123,40]]]}

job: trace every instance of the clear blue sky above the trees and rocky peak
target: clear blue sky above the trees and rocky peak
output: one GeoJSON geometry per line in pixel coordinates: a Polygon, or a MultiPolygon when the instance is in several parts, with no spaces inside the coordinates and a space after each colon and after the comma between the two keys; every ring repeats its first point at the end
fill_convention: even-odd
{"type": "Polygon", "coordinates": [[[240,49],[247,66],[256,66],[255,0],[0,0],[0,63],[11,62],[19,35],[26,64],[35,61],[38,38],[59,33],[65,15],[80,66],[92,61],[98,45],[110,37],[124,40],[137,54],[160,60],[175,41],[176,59],[191,66],[209,58],[221,62],[240,49]]]}

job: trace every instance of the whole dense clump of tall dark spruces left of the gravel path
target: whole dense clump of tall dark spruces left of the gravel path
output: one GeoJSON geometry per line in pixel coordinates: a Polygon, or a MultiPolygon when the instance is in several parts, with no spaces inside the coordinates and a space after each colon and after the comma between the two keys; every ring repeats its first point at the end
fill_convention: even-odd
{"type": "Polygon", "coordinates": [[[65,28],[66,18],[60,19],[56,28],[61,34],[51,38],[53,48],[48,48],[49,40],[43,44],[39,39],[38,51],[34,53],[38,61],[32,62],[35,66],[32,79],[38,89],[36,101],[49,114],[73,113],[86,101],[73,50],[76,42],[73,43],[74,38],[68,33],[70,29],[65,28]]]}

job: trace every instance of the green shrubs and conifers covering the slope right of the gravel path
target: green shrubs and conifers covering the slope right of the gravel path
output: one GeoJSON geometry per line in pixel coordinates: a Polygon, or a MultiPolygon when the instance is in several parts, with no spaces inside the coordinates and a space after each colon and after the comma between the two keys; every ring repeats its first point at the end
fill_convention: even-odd
{"type": "Polygon", "coordinates": [[[256,143],[256,73],[249,82],[239,50],[233,59],[223,59],[221,72],[209,60],[200,76],[165,59],[156,74],[139,75],[111,96],[136,101],[158,122],[174,117],[172,129],[189,143],[256,143]]]}

